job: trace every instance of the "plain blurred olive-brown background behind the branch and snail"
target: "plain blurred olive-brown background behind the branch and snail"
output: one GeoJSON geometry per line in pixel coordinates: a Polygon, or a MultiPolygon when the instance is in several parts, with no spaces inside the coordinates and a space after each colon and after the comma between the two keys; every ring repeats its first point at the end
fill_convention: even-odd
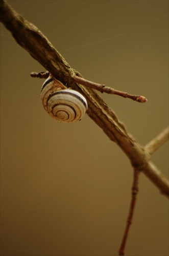
{"type": "MultiPolygon", "coordinates": [[[[168,1],[8,3],[86,79],[148,98],[101,95],[140,144],[167,126],[168,1]]],[[[117,255],[130,162],[87,115],[47,115],[32,71],[44,68],[1,24],[1,255],[117,255]]],[[[167,143],[152,161],[167,177],[167,143]]],[[[168,255],[168,200],[144,175],[126,255],[168,255]]]]}

